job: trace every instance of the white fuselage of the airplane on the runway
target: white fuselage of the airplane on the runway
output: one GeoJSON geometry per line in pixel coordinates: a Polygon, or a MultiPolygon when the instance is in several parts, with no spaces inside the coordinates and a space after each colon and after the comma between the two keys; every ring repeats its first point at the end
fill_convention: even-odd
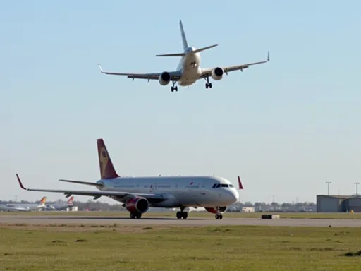
{"type": "Polygon", "coordinates": [[[101,191],[157,193],[166,199],[150,204],[151,207],[228,206],[239,198],[231,181],[215,176],[119,177],[102,179],[97,183],[104,184],[99,188],[101,191]]]}

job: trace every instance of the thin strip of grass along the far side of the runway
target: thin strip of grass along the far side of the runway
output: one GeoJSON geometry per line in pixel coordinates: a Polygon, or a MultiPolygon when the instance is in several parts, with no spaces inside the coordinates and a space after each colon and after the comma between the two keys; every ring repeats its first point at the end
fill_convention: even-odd
{"type": "MultiPolygon", "coordinates": [[[[281,218],[310,218],[310,219],[361,219],[361,213],[322,213],[322,212],[226,212],[224,217],[259,218],[262,214],[276,214],[281,218]]],[[[129,217],[129,212],[0,212],[1,215],[85,215],[106,217],[129,217]]],[[[176,217],[176,212],[146,212],[142,217],[176,217]]],[[[209,212],[189,212],[188,217],[209,217],[214,215],[209,212]]]]}

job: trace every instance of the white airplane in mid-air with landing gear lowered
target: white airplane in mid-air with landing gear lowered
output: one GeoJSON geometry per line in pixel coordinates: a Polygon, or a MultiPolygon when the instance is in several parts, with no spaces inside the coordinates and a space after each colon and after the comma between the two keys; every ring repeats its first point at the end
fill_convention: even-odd
{"type": "Polygon", "coordinates": [[[181,28],[181,37],[183,42],[183,53],[176,54],[157,54],[156,56],[177,56],[181,57],[179,64],[176,68],[176,71],[162,71],[158,73],[118,73],[111,71],[103,71],[102,66],[98,64],[100,72],[109,75],[115,76],[127,76],[128,78],[134,79],[146,79],[148,80],[158,80],[160,85],[168,85],[172,82],[173,86],[171,87],[171,91],[178,91],[178,87],[176,83],[181,86],[190,86],[195,83],[197,80],[204,79],[207,81],[206,88],[212,88],[212,83],[209,83],[209,77],[213,80],[221,80],[224,76],[224,73],[228,76],[228,73],[231,71],[242,71],[245,68],[249,68],[252,65],[263,64],[269,61],[269,52],[267,61],[259,61],[247,64],[240,64],[235,66],[217,66],[215,68],[201,68],[200,67],[200,52],[205,51],[207,49],[211,49],[213,47],[218,46],[218,44],[214,44],[207,47],[202,47],[200,49],[196,49],[195,47],[189,47],[188,41],[185,37],[185,32],[183,29],[182,21],[179,21],[179,25],[181,28]]]}

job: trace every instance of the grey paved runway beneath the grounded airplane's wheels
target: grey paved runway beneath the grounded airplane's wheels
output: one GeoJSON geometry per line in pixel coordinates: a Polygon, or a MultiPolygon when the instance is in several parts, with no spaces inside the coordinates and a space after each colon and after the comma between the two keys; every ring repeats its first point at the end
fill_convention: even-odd
{"type": "Polygon", "coordinates": [[[258,219],[258,218],[188,218],[169,217],[90,217],[90,216],[44,216],[44,215],[2,215],[0,224],[123,224],[162,226],[216,226],[216,225],[263,225],[292,227],[361,227],[361,219],[258,219]]]}

